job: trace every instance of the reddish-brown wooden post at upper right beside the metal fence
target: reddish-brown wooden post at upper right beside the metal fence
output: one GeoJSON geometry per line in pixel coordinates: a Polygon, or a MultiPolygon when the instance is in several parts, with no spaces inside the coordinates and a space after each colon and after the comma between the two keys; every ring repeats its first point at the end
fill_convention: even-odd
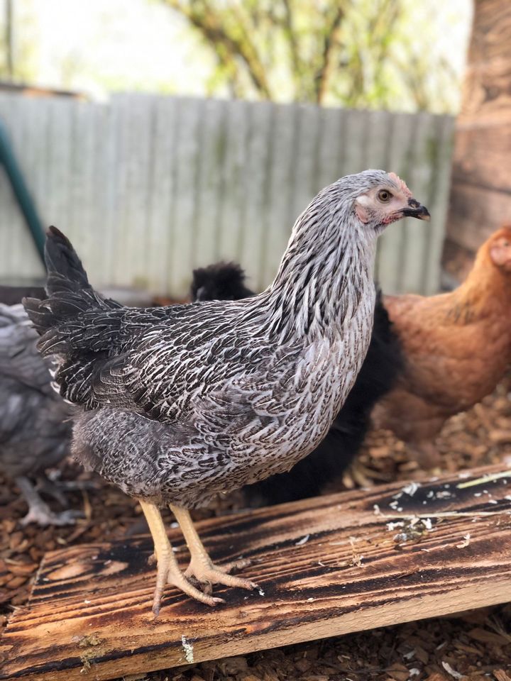
{"type": "MultiPolygon", "coordinates": [[[[447,239],[475,253],[511,223],[511,3],[476,0],[456,121],[447,239]]],[[[448,245],[449,246],[449,245],[448,245]]]]}

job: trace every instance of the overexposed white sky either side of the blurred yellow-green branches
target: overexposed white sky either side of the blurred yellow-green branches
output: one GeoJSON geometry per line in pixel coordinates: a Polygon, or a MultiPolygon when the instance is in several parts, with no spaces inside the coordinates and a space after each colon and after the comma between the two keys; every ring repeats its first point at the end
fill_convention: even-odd
{"type": "MultiPolygon", "coordinates": [[[[6,0],[0,0],[0,9],[6,0]]],[[[363,1],[363,0],[361,0],[363,1]]],[[[35,83],[104,97],[111,90],[204,94],[212,57],[158,0],[14,0],[15,40],[35,83]]],[[[410,0],[429,49],[463,71],[471,0],[410,0]]],[[[4,11],[1,13],[3,18],[4,11]]]]}

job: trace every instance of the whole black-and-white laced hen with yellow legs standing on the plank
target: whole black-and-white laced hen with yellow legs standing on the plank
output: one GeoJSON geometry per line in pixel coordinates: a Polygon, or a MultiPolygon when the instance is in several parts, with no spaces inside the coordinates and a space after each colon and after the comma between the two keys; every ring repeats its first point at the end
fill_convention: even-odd
{"type": "Polygon", "coordinates": [[[253,589],[215,565],[188,509],[289,470],[346,399],[370,341],[376,238],[427,219],[396,175],[367,170],[323,189],[297,219],[273,284],[253,298],[133,309],[92,289],[70,242],[50,228],[46,301],[25,306],[63,397],[79,404],[73,452],[139,499],[158,562],[153,611],[171,583],[253,589]],[[170,505],[191,560],[180,571],[159,506],[170,505]]]}

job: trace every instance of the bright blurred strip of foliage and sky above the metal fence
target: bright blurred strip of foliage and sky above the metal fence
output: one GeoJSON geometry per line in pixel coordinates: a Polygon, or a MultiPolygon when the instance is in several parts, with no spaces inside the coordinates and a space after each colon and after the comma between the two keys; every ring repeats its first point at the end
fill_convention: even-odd
{"type": "Polygon", "coordinates": [[[0,78],[456,113],[470,0],[0,0],[0,78]]]}

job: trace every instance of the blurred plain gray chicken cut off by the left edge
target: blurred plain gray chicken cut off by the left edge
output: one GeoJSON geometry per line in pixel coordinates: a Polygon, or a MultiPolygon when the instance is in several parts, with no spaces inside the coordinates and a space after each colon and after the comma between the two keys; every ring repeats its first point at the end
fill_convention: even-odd
{"type": "Polygon", "coordinates": [[[50,362],[38,353],[37,339],[23,305],[0,304],[0,470],[28,503],[23,524],[65,525],[72,523],[73,511],[51,511],[31,482],[37,479],[65,502],[44,470],[69,451],[70,407],[51,387],[50,362]]]}

